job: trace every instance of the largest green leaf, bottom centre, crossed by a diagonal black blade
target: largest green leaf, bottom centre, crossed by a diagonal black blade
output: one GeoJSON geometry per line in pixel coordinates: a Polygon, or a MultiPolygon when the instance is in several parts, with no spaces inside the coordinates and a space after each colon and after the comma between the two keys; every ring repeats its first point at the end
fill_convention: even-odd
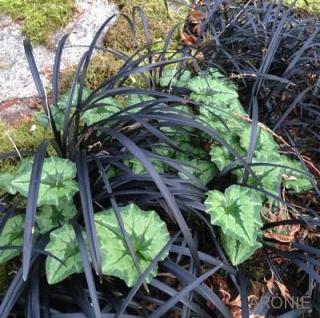
{"type": "MultiPolygon", "coordinates": [[[[154,211],[143,211],[135,204],[120,208],[125,229],[136,252],[141,271],[144,271],[169,241],[165,223],[154,211]]],[[[95,214],[97,235],[101,247],[104,275],[123,279],[131,287],[138,273],[126,248],[114,211],[109,209],[95,214]]],[[[168,253],[165,253],[164,259],[168,253]]],[[[150,281],[157,273],[155,268],[150,281]]]]}

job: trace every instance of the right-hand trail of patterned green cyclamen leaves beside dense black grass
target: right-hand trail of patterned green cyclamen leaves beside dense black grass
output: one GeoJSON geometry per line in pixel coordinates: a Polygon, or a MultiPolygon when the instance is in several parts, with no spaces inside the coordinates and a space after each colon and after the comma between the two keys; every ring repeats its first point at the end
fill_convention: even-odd
{"type": "MultiPolygon", "coordinates": [[[[180,79],[176,78],[172,71],[168,71],[160,83],[166,85],[169,81],[177,87],[188,88],[189,98],[202,104],[199,108],[199,119],[223,136],[238,154],[248,159],[247,149],[252,126],[232,82],[226,81],[215,69],[201,72],[192,78],[189,72],[185,72],[180,79]]],[[[210,161],[193,162],[198,170],[195,175],[207,185],[212,180],[214,172],[230,169],[241,184],[245,178],[245,170],[232,167],[236,162],[235,156],[227,147],[216,141],[211,139],[208,142],[210,161]],[[205,179],[201,179],[202,173],[205,179]]],[[[192,143],[189,140],[186,144],[192,143]]],[[[185,155],[182,154],[183,156],[185,155]]],[[[178,154],[175,158],[179,160],[181,156],[178,154]]],[[[251,161],[253,174],[248,177],[246,183],[249,186],[257,185],[260,190],[231,185],[224,193],[217,190],[206,193],[205,211],[210,214],[211,223],[221,228],[222,245],[233,265],[244,262],[262,246],[259,243],[262,235],[259,229],[263,225],[260,216],[263,204],[272,204],[278,198],[281,188],[295,192],[313,188],[312,176],[305,172],[298,160],[280,154],[279,145],[274,140],[272,132],[261,123],[258,123],[256,129],[255,149],[251,161]]]]}

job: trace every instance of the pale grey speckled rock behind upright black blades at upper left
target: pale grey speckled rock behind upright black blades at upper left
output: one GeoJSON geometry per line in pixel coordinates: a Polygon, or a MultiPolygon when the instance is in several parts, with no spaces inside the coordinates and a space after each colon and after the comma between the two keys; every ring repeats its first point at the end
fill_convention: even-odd
{"type": "MultiPolygon", "coordinates": [[[[62,57],[62,70],[79,62],[86,46],[90,44],[100,25],[108,17],[117,13],[115,5],[103,0],[76,0],[76,5],[78,13],[73,21],[53,36],[53,42],[56,46],[61,37],[70,32],[62,57]]],[[[0,16],[0,103],[10,99],[37,96],[36,87],[24,55],[23,38],[19,24],[14,23],[8,17],[0,16]]],[[[98,42],[98,45],[100,43],[101,41],[98,42]]],[[[54,50],[39,45],[34,48],[34,56],[43,84],[49,90],[54,50]]],[[[0,119],[1,114],[2,112],[0,112],[0,119]]]]}

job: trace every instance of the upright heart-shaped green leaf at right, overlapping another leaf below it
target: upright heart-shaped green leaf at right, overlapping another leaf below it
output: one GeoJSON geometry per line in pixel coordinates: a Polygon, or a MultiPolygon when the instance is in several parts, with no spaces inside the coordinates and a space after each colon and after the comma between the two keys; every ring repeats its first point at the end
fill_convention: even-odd
{"type": "Polygon", "coordinates": [[[224,234],[253,245],[257,231],[262,226],[262,202],[257,192],[232,185],[225,193],[213,190],[207,192],[207,195],[205,206],[211,216],[211,223],[220,226],[224,234]]]}

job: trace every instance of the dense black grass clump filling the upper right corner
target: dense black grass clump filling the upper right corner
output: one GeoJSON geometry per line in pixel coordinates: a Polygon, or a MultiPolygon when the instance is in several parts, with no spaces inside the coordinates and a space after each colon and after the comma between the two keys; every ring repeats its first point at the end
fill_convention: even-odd
{"type": "Polygon", "coordinates": [[[288,132],[319,164],[319,20],[295,11],[294,2],[204,2],[194,45],[204,54],[202,67],[219,67],[238,82],[242,104],[252,113],[256,99],[259,121],[288,132]]]}

